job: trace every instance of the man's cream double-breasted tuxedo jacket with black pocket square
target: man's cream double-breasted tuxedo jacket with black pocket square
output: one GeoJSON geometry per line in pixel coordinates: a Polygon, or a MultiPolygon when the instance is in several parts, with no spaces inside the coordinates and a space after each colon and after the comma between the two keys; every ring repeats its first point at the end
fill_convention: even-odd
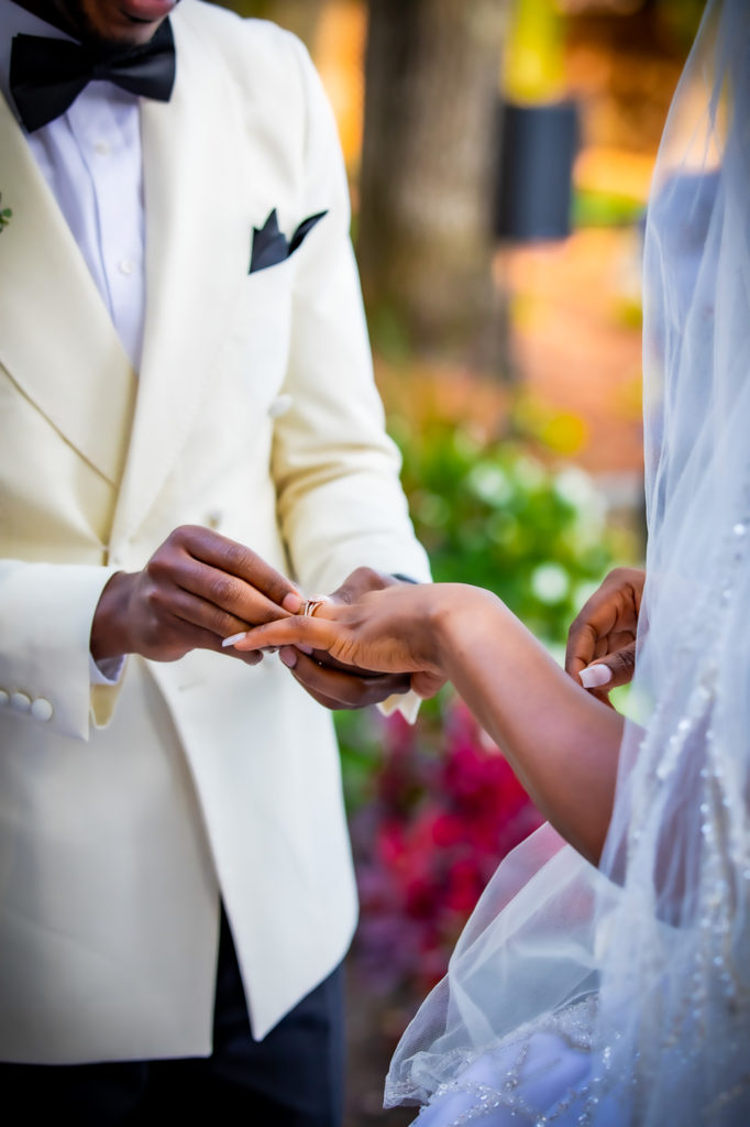
{"type": "MultiPolygon", "coordinates": [[[[0,1058],[211,1051],[218,896],[253,1035],[345,953],[331,717],[288,671],[194,653],[89,683],[108,577],[209,524],[307,592],[427,578],[383,433],[336,127],[298,42],[198,0],[142,105],[135,375],[5,101],[0,192],[0,1058]],[[286,260],[248,273],[253,228],[286,260]]],[[[0,99],[1,100],[1,99],[0,99]]]]}

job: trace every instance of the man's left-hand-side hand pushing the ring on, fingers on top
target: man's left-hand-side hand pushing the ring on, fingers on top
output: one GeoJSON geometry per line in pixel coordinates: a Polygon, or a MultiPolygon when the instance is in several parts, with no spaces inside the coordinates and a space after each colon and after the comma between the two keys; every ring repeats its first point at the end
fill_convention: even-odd
{"type": "MultiPolygon", "coordinates": [[[[209,529],[181,525],[142,571],[118,571],[106,585],[93,614],[91,656],[141,654],[176,662],[191,649],[232,653],[222,647],[227,633],[301,605],[294,585],[249,548],[209,529]]],[[[250,665],[262,658],[234,656],[250,665]]]]}

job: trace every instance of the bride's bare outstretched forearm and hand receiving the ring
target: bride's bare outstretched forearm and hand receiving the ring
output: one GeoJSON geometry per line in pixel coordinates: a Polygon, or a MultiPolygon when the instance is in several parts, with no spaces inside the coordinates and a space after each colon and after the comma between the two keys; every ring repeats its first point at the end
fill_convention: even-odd
{"type": "Polygon", "coordinates": [[[574,684],[505,604],[464,584],[410,584],[324,603],[250,630],[235,644],[328,650],[359,668],[411,675],[425,695],[447,678],[537,808],[598,863],[615,793],[624,720],[574,684]]]}

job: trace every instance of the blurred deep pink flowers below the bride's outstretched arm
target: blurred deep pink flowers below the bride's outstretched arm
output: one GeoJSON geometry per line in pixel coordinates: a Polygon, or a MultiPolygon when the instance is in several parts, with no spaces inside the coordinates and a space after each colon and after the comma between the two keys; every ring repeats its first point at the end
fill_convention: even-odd
{"type": "Polygon", "coordinates": [[[375,796],[352,822],[361,903],[355,953],[382,986],[417,993],[448,957],[499,861],[542,818],[465,704],[426,753],[420,726],[383,721],[375,796]]]}

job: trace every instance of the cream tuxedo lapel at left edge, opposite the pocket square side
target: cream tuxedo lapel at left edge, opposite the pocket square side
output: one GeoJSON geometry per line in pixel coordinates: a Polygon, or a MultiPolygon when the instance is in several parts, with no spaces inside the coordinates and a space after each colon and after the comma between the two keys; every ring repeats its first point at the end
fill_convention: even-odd
{"type": "Polygon", "coordinates": [[[135,375],[26,139],[0,95],[0,361],[79,453],[117,485],[135,375]]]}

